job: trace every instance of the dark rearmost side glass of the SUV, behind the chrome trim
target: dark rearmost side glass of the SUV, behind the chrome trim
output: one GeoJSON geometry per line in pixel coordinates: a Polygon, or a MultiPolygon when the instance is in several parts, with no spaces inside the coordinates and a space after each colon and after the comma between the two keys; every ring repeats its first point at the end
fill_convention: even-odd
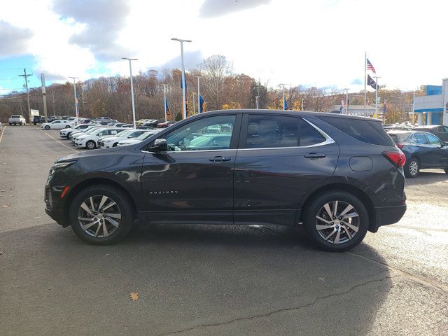
{"type": "Polygon", "coordinates": [[[319,118],[358,141],[380,146],[394,145],[391,137],[386,134],[379,122],[327,116],[319,118]]]}

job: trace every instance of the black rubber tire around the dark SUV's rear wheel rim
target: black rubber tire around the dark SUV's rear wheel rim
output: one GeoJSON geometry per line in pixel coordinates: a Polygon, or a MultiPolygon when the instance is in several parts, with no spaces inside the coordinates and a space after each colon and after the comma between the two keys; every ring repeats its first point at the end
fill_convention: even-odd
{"type": "MultiPolygon", "coordinates": [[[[353,220],[353,218],[351,219],[353,220]]],[[[330,218],[329,221],[337,221],[337,218],[336,219],[330,218]]],[[[337,223],[335,222],[331,223],[335,224],[335,228],[339,228],[337,223]]],[[[347,251],[355,246],[358,246],[358,244],[360,244],[360,242],[363,241],[365,234],[367,233],[367,229],[369,228],[369,215],[367,213],[367,209],[365,209],[365,205],[358,199],[358,197],[342,190],[332,190],[326,193],[322,193],[317,197],[315,197],[314,200],[312,200],[311,203],[308,205],[307,209],[304,209],[303,224],[308,237],[316,246],[318,246],[318,248],[321,248],[325,251],[342,252],[347,251]],[[323,237],[321,237],[321,235],[318,233],[319,231],[316,228],[316,224],[318,221],[316,216],[320,214],[320,211],[322,210],[325,204],[335,201],[338,201],[338,204],[344,204],[344,203],[350,204],[353,207],[353,211],[355,211],[358,214],[357,217],[358,224],[353,225],[358,227],[358,231],[351,233],[351,235],[353,235],[351,239],[349,239],[348,241],[341,242],[339,244],[335,244],[332,241],[326,241],[323,237]]],[[[332,232],[331,230],[335,228],[329,227],[328,230],[332,232]]],[[[349,230],[348,227],[346,228],[347,230],[349,230]]],[[[341,235],[346,235],[346,233],[344,233],[344,230],[342,230],[342,226],[339,228],[339,230],[341,231],[341,235]]],[[[323,232],[323,230],[320,232],[323,232]]],[[[332,236],[334,240],[336,235],[332,236]]],[[[346,239],[348,239],[348,237],[346,237],[346,239]]]]}

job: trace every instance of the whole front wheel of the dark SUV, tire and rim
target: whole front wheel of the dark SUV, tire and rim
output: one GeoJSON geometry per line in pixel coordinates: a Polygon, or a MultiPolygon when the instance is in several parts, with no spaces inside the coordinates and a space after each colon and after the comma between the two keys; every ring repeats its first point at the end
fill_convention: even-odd
{"type": "Polygon", "coordinates": [[[118,188],[97,185],[85,188],[71,202],[73,232],[89,244],[113,244],[132,228],[134,211],[129,197],[118,188]]]}

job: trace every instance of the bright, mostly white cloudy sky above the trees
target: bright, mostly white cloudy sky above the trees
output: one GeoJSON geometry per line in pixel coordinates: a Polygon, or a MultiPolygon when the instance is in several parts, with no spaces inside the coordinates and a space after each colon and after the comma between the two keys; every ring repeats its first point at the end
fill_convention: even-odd
{"type": "Polygon", "coordinates": [[[234,71],[279,83],[363,88],[364,52],[379,85],[414,90],[448,77],[444,0],[4,0],[0,94],[23,71],[48,82],[186,68],[225,55],[234,71]]]}

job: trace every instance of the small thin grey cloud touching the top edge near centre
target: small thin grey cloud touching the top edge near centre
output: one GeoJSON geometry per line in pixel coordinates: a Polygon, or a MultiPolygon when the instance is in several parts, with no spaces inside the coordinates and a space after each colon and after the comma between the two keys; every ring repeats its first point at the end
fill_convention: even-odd
{"type": "Polygon", "coordinates": [[[205,0],[200,8],[202,18],[216,18],[248,8],[265,5],[271,0],[205,0]]]}

